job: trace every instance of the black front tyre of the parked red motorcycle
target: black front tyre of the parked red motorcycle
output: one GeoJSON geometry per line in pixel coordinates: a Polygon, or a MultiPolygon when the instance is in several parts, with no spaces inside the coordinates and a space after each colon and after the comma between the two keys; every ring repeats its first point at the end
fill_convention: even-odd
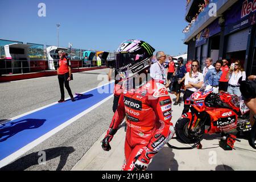
{"type": "Polygon", "coordinates": [[[189,124],[188,118],[180,118],[175,125],[175,134],[177,139],[181,140],[181,142],[193,144],[198,142],[199,139],[201,140],[203,137],[203,134],[201,132],[199,137],[197,138],[193,137],[192,135],[189,134],[188,124],[189,124]]]}

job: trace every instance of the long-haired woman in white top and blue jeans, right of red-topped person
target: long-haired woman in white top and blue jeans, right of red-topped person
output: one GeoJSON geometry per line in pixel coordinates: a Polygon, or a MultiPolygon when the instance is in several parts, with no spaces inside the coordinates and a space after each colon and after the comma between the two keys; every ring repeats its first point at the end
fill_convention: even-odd
{"type": "Polygon", "coordinates": [[[246,80],[246,73],[241,67],[240,60],[235,61],[229,69],[226,78],[229,78],[228,93],[236,94],[238,97],[241,96],[240,84],[238,80],[242,77],[242,81],[246,80]]]}

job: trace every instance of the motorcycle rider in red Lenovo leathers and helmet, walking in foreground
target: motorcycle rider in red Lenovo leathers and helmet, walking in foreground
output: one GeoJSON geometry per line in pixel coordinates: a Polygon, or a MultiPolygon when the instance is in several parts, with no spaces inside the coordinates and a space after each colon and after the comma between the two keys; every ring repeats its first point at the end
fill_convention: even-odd
{"type": "Polygon", "coordinates": [[[118,48],[117,69],[126,80],[102,148],[111,149],[109,143],[126,117],[125,171],[146,170],[175,133],[168,90],[163,82],[146,76],[154,51],[139,40],[128,40],[118,48]]]}

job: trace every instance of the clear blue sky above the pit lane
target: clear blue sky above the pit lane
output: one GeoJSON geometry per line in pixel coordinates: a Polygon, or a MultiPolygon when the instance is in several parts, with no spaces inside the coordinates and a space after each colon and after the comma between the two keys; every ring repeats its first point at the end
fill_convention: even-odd
{"type": "MultiPolygon", "coordinates": [[[[0,39],[116,51],[128,39],[147,42],[168,55],[187,52],[182,30],[185,0],[0,0],[0,39]],[[46,5],[40,17],[39,3],[46,5]]],[[[42,12],[42,11],[40,11],[42,12]]]]}

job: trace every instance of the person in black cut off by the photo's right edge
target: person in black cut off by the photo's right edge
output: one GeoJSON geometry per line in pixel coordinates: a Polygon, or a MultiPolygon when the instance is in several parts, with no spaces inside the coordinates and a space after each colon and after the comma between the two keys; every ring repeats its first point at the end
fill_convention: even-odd
{"type": "Polygon", "coordinates": [[[251,147],[256,149],[255,137],[256,137],[256,75],[251,75],[248,77],[248,81],[241,81],[240,78],[240,92],[245,100],[245,104],[250,109],[250,124],[251,131],[248,138],[248,142],[251,147]]]}

